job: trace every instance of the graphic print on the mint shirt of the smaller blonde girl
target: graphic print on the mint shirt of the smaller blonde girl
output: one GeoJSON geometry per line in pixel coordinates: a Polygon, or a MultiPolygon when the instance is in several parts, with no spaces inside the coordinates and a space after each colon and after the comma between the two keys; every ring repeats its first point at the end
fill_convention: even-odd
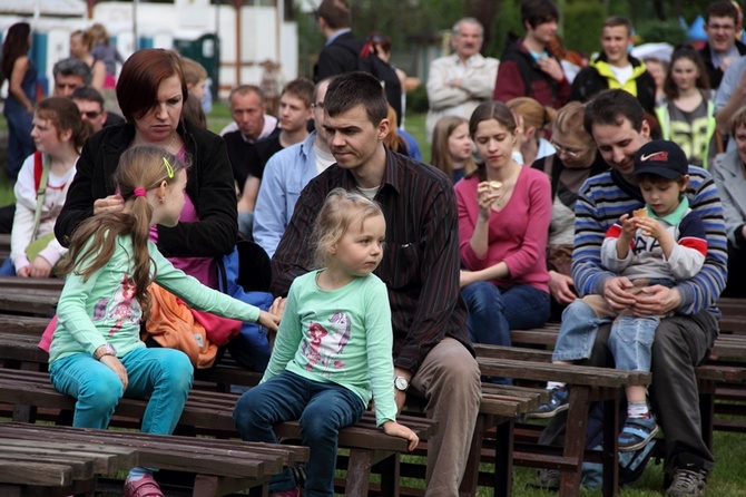
{"type": "Polygon", "coordinates": [[[335,312],[328,320],[327,328],[313,322],[308,327],[310,341],[303,343],[302,352],[308,358],[306,370],[313,371],[318,364],[322,374],[328,377],[330,369],[344,369],[344,361],[336,358],[350,341],[350,329],[352,328],[350,316],[344,312],[335,312]],[[328,328],[328,329],[327,329],[328,328]]]}

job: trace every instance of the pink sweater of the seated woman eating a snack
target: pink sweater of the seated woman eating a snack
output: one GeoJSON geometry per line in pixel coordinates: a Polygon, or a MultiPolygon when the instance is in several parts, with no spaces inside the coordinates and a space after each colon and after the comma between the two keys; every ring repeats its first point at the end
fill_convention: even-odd
{"type": "Polygon", "coordinates": [[[505,207],[490,214],[489,248],[484,257],[471,247],[471,235],[479,218],[477,175],[455,185],[459,205],[459,240],[463,265],[478,271],[500,262],[508,265],[510,279],[495,280],[498,286],[530,284],[549,292],[547,238],[551,221],[551,187],[547,175],[523,166],[505,207]]]}

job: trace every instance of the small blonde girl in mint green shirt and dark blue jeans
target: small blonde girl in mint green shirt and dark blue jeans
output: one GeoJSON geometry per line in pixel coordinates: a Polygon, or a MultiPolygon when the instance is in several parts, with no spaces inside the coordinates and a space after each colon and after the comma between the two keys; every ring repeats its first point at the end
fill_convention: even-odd
{"type": "MultiPolygon", "coordinates": [[[[287,295],[262,382],[236,403],[244,440],[277,442],[272,427],[298,419],[311,448],[304,496],[333,496],[337,432],[360,420],[371,398],[377,425],[392,436],[418,436],[396,422],[393,332],[385,284],[373,274],[383,256],[381,207],[356,193],[333,189],[312,234],[316,266],[287,295]]],[[[297,496],[293,474],[273,477],[271,496],[297,496]]]]}

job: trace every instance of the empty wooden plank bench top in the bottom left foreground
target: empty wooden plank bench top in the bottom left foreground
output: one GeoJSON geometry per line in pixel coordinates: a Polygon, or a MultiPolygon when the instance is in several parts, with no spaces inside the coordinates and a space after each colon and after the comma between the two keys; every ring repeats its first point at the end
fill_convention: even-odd
{"type": "Polygon", "coordinates": [[[11,422],[0,423],[0,484],[18,495],[29,487],[80,491],[73,481],[91,491],[97,475],[146,466],[196,474],[195,497],[222,496],[266,487],[283,466],[308,458],[308,449],[296,446],[11,422]],[[22,470],[19,461],[37,470],[22,470]]]}

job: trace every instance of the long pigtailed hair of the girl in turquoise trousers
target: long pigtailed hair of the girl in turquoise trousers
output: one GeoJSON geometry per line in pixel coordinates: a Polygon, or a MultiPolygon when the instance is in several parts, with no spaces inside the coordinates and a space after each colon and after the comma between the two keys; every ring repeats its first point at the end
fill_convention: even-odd
{"type": "Polygon", "coordinates": [[[87,281],[91,274],[104,267],[116,248],[120,235],[132,237],[132,281],[135,298],[147,318],[150,310],[148,286],[155,277],[150,275],[150,254],[148,237],[153,206],[145,196],[136,196],[136,188],[149,191],[164,182],[176,182],[177,174],[186,166],[173,154],[161,147],[139,145],[125,150],[119,158],[114,175],[119,194],[125,202],[132,199],[129,212],[104,212],[84,221],[72,233],[67,259],[60,264],[58,273],[75,272],[87,281]]]}

